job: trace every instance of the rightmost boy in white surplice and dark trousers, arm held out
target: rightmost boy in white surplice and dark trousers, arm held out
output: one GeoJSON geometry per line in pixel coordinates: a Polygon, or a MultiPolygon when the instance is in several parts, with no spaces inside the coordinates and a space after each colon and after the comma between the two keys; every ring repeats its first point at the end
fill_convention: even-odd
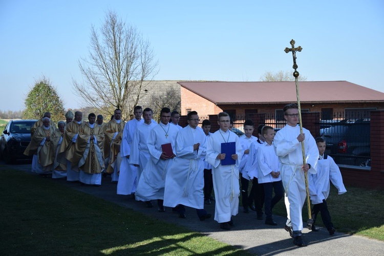
{"type": "Polygon", "coordinates": [[[332,184],[337,188],[338,195],[342,195],[347,192],[344,184],[343,177],[340,173],[340,169],[336,165],[332,157],[324,154],[326,148],[326,142],[323,138],[317,137],[316,144],[318,148],[318,161],[317,161],[317,173],[309,175],[309,189],[313,191],[311,196],[312,201],[312,218],[313,224],[308,224],[307,228],[312,231],[318,231],[314,225],[317,214],[320,212],[324,225],[326,226],[330,235],[335,233],[335,228],[331,221],[331,215],[329,214],[326,199],[329,196],[330,180],[332,184]]]}

